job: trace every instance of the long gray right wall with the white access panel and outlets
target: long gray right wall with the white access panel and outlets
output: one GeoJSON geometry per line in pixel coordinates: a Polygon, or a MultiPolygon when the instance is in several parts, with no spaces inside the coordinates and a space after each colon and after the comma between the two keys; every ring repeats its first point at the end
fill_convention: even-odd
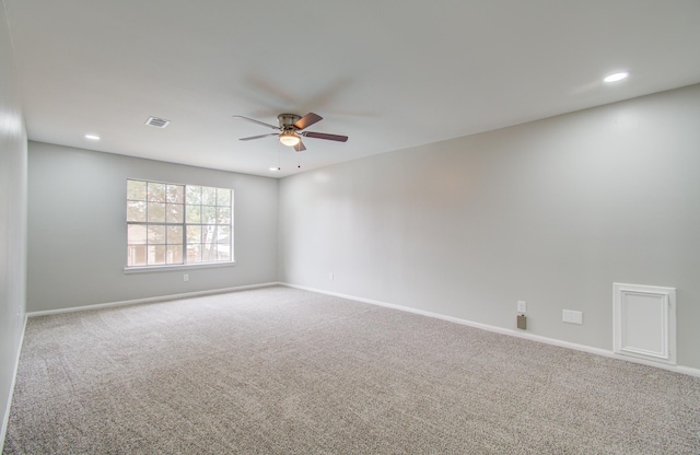
{"type": "Polygon", "coordinates": [[[279,278],[606,350],[612,282],[676,287],[698,369],[699,172],[695,85],[287,177],[279,278]]]}

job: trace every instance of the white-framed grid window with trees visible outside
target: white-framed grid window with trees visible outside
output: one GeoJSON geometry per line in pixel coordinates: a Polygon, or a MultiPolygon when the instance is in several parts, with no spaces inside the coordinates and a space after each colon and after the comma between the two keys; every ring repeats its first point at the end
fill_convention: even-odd
{"type": "Polygon", "coordinates": [[[233,261],[233,190],[127,179],[127,267],[233,261]]]}

